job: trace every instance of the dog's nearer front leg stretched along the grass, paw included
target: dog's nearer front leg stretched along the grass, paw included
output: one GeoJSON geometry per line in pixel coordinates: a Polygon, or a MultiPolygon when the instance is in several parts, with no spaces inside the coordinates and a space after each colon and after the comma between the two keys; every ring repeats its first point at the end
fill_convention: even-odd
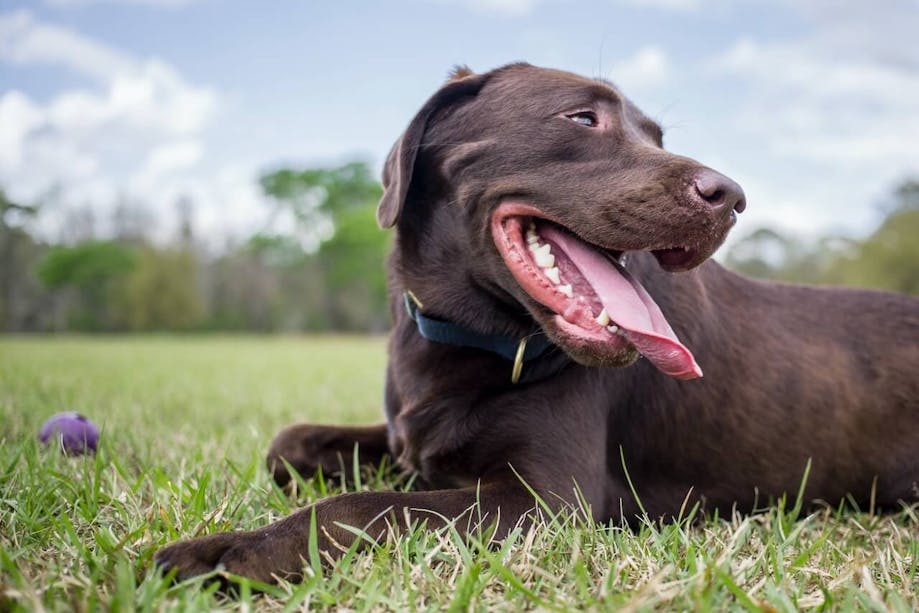
{"type": "MultiPolygon", "coordinates": [[[[156,554],[156,563],[178,570],[180,580],[223,569],[273,583],[276,577],[298,580],[310,551],[313,514],[319,551],[340,555],[357,537],[342,526],[363,530],[371,539],[399,533],[412,522],[441,527],[457,519],[456,528],[469,533],[476,526],[495,526],[503,538],[521,518],[530,521],[533,497],[518,483],[429,492],[358,492],[321,500],[288,517],[251,532],[226,532],[174,543],[156,554]]],[[[363,546],[366,541],[362,541],[363,546]]]]}

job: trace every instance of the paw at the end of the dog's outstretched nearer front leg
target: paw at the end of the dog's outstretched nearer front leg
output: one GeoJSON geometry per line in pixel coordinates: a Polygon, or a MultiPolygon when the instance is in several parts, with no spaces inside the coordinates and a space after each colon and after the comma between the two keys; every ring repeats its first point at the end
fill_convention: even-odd
{"type": "Polygon", "coordinates": [[[164,572],[175,570],[177,581],[221,571],[276,583],[278,577],[293,578],[299,568],[283,563],[286,556],[272,555],[283,550],[274,540],[264,531],[223,532],[173,543],[156,552],[154,561],[164,572]]]}

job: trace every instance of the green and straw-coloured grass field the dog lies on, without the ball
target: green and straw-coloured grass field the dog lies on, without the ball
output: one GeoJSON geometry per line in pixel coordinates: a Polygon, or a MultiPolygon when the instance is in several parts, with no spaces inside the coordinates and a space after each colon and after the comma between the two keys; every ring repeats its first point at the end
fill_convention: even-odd
{"type": "MultiPolygon", "coordinates": [[[[341,491],[314,479],[291,499],[263,454],[294,421],[378,420],[384,360],[382,339],[0,339],[0,611],[919,610],[916,508],[799,516],[794,501],[635,531],[571,514],[492,547],[416,530],[234,598],[151,570],[172,540],[341,491]],[[102,426],[95,456],[38,444],[67,410],[102,426]]],[[[379,470],[357,487],[402,485],[379,470]]]]}

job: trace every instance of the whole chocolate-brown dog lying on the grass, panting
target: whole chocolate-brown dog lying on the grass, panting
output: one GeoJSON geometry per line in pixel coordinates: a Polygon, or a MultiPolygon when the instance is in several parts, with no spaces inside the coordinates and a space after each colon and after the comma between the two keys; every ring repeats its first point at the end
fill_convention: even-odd
{"type": "Polygon", "coordinates": [[[752,510],[796,491],[809,461],[809,500],[919,496],[919,303],[705,262],[743,192],[664,151],[609,84],[458,70],[383,179],[378,218],[397,231],[387,424],[290,427],[269,466],[281,483],[282,458],[335,472],[358,443],[360,461],[391,454],[440,489],[336,496],[171,545],[157,561],[180,577],[296,577],[312,513],[333,554],[355,538],[340,524],[377,537],[476,502],[500,535],[534,507],[521,480],[617,522],[640,513],[626,470],[653,518],[752,510]]]}

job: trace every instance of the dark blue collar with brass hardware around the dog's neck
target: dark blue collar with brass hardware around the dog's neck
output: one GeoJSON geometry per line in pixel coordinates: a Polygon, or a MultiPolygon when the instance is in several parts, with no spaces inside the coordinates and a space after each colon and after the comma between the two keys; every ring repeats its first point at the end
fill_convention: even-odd
{"type": "Polygon", "coordinates": [[[523,338],[503,334],[482,334],[450,321],[434,319],[424,315],[421,312],[421,302],[411,290],[402,292],[402,297],[405,300],[405,310],[415,322],[418,327],[418,333],[422,337],[435,343],[454,345],[456,347],[472,347],[498,354],[505,360],[514,363],[511,370],[511,383],[529,383],[543,379],[555,374],[568,363],[564,352],[549,342],[549,339],[541,331],[523,338]],[[564,356],[565,359],[561,361],[552,360],[552,363],[542,364],[539,368],[533,368],[532,364],[528,364],[544,354],[546,354],[546,357],[549,357],[550,354],[557,354],[564,356]],[[525,364],[528,365],[527,372],[521,376],[525,364]]]}

